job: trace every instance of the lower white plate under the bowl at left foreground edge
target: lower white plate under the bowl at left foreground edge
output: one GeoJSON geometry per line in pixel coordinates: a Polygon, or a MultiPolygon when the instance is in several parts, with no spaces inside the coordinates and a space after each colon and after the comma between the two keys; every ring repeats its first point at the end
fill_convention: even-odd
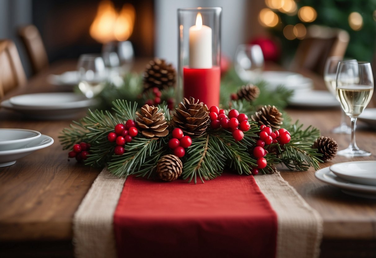
{"type": "Polygon", "coordinates": [[[30,155],[36,150],[43,149],[51,144],[53,144],[53,139],[42,134],[41,137],[31,141],[20,149],[0,151],[0,167],[13,165],[17,159],[30,155]]]}

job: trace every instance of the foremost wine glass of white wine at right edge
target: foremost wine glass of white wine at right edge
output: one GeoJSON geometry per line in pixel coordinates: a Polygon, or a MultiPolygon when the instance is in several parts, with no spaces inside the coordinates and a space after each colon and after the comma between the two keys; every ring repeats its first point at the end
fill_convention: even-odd
{"type": "Polygon", "coordinates": [[[361,150],[355,142],[356,118],[368,105],[373,94],[373,74],[369,62],[340,62],[337,71],[337,94],[342,109],[351,119],[351,142],[349,147],[338,151],[338,155],[347,157],[370,156],[361,150]]]}

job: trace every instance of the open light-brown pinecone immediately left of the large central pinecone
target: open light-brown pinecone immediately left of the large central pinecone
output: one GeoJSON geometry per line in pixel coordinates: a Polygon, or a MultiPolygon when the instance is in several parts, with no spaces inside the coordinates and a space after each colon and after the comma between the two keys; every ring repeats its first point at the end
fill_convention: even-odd
{"type": "Polygon", "coordinates": [[[158,112],[158,107],[146,104],[141,108],[141,114],[136,111],[136,115],[136,123],[146,137],[156,138],[168,134],[166,118],[162,112],[158,112]]]}

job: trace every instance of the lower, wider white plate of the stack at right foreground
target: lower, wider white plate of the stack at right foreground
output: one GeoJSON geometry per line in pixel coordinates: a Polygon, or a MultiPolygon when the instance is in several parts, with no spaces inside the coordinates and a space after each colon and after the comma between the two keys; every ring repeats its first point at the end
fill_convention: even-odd
{"type": "Polygon", "coordinates": [[[315,172],[318,180],[339,187],[346,194],[376,199],[376,187],[372,185],[359,185],[342,179],[330,170],[329,167],[321,168],[315,172]]]}

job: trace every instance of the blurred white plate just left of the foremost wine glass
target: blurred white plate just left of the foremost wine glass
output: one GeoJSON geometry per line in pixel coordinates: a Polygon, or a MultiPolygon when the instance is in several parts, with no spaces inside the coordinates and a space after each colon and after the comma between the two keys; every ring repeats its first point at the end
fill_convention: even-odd
{"type": "Polygon", "coordinates": [[[296,91],[289,105],[308,108],[332,108],[340,103],[329,91],[296,91]]]}

